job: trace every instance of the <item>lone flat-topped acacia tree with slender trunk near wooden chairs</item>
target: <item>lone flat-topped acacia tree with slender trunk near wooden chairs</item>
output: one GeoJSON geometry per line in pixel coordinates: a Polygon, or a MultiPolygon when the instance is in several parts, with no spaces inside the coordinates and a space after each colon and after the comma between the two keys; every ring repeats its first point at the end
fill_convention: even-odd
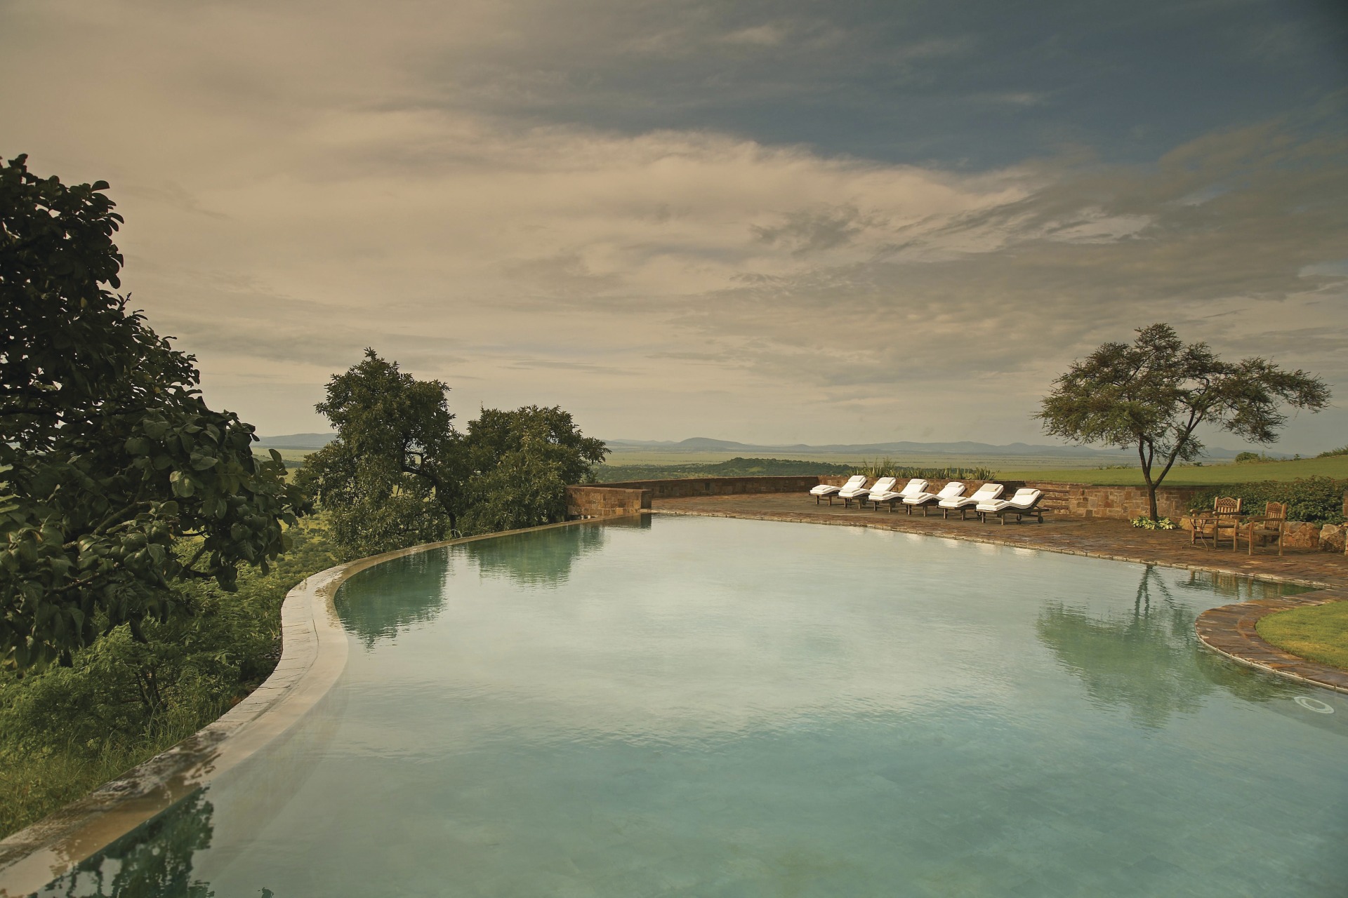
{"type": "Polygon", "coordinates": [[[1170,324],[1138,329],[1132,345],[1105,343],[1054,381],[1035,417],[1074,443],[1138,450],[1151,517],[1157,487],[1175,462],[1202,454],[1209,424],[1252,443],[1274,443],[1287,421],[1281,405],[1318,412],[1329,388],[1302,370],[1263,358],[1225,362],[1206,343],[1185,343],[1170,324]]]}

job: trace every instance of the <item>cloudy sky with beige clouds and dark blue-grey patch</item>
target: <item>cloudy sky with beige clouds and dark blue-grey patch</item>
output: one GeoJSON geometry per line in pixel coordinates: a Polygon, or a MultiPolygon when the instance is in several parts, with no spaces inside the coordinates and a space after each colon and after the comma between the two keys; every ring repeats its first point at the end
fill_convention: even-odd
{"type": "Polygon", "coordinates": [[[465,421],[1049,442],[1166,320],[1330,382],[1278,448],[1348,443],[1335,0],[0,0],[0,152],[112,183],[263,434],[373,346],[465,421]]]}

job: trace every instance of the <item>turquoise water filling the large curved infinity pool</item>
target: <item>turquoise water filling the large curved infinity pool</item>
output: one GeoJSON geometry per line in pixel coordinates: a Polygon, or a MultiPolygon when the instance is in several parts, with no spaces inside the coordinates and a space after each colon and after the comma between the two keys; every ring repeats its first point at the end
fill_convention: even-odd
{"type": "Polygon", "coordinates": [[[724,518],[411,556],[287,738],[49,894],[1341,897],[1345,696],[1193,634],[1264,588],[724,518]]]}

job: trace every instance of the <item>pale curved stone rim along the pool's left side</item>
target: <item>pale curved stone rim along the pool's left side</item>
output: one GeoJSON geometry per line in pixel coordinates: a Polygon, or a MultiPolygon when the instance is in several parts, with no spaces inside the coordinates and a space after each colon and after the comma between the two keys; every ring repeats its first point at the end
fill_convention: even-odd
{"type": "Polygon", "coordinates": [[[271,676],[248,697],[178,745],[0,840],[0,898],[31,895],[63,876],[236,767],[303,718],[346,666],[346,631],[333,599],[350,576],[392,559],[448,545],[603,520],[608,518],[426,543],[338,564],[306,578],[282,603],[282,654],[271,676]]]}

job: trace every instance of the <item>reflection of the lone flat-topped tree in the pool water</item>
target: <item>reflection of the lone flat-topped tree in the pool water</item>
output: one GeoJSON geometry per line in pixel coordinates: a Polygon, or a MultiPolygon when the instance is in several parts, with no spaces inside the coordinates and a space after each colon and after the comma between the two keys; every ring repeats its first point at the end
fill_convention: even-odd
{"type": "MultiPolygon", "coordinates": [[[[1198,583],[1190,578],[1185,586],[1198,583]]],[[[1200,645],[1196,617],[1196,609],[1175,600],[1161,571],[1147,565],[1131,611],[1099,617],[1054,602],[1039,613],[1035,630],[1081,680],[1092,703],[1127,708],[1146,728],[1161,728],[1175,714],[1194,714],[1217,688],[1251,701],[1295,692],[1200,645]]]]}

